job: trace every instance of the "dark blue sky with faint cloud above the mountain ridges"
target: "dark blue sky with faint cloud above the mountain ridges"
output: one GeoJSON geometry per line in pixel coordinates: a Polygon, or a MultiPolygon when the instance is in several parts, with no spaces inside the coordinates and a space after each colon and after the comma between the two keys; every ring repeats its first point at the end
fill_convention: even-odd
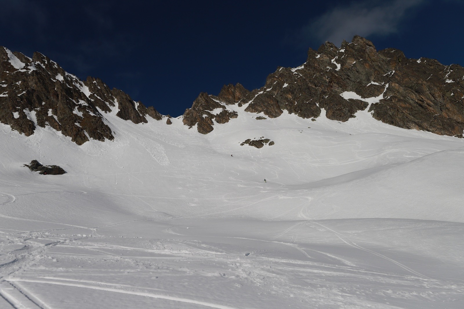
{"type": "Polygon", "coordinates": [[[0,45],[40,51],[172,116],[202,91],[259,88],[277,66],[304,63],[309,47],[354,34],[464,65],[464,0],[0,0],[0,12],[0,45]]]}

